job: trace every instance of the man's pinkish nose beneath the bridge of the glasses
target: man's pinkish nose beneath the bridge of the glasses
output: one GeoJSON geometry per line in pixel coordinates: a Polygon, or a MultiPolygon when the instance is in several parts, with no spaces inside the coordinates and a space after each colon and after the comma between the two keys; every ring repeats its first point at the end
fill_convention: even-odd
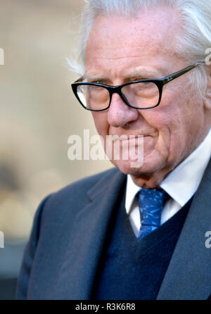
{"type": "Polygon", "coordinates": [[[118,94],[113,94],[108,109],[108,123],[113,127],[124,127],[139,118],[137,109],[127,106],[118,94]]]}

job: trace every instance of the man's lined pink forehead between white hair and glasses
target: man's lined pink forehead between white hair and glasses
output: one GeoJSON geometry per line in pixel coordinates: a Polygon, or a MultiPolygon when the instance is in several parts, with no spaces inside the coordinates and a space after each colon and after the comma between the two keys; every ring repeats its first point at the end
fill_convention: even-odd
{"type": "Polygon", "coordinates": [[[165,68],[174,59],[178,27],[177,13],[169,8],[136,18],[98,16],[87,42],[86,74],[117,77],[140,65],[165,68]]]}

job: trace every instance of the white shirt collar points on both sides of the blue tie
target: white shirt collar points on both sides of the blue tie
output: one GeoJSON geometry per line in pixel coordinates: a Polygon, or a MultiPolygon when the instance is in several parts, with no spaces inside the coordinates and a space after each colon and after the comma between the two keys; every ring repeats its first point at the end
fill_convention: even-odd
{"type": "MultiPolygon", "coordinates": [[[[182,207],[191,199],[198,189],[203,173],[210,160],[211,154],[211,129],[203,142],[182,163],[180,163],[162,181],[160,187],[169,194],[174,201],[182,207]]],[[[125,208],[127,214],[132,207],[134,197],[140,187],[134,184],[132,177],[127,175],[125,208]]]]}

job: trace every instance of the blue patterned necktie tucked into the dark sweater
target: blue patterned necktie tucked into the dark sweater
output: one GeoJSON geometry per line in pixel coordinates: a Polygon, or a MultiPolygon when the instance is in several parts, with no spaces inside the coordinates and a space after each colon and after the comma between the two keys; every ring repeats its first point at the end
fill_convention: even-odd
{"type": "Polygon", "coordinates": [[[160,226],[162,208],[168,194],[162,189],[140,189],[136,194],[139,203],[141,228],[139,239],[160,226]]]}

